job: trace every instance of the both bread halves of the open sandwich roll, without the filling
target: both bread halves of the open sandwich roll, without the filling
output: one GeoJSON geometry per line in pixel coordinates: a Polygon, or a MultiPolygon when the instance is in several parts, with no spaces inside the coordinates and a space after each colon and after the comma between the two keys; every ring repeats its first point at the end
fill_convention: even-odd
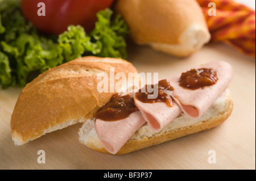
{"type": "MultiPolygon", "coordinates": [[[[97,90],[98,81],[101,81],[97,79],[98,73],[110,75],[111,68],[114,68],[114,74],[124,73],[129,77],[129,73],[135,73],[139,76],[130,62],[120,58],[90,56],[49,69],[28,83],[22,90],[11,116],[11,135],[15,145],[23,145],[46,133],[85,122],[79,131],[79,141],[93,150],[109,153],[97,136],[94,129],[95,119],[92,117],[114,95],[114,92],[100,93],[97,90]]],[[[109,79],[108,81],[112,82],[109,79]]],[[[135,83],[130,82],[127,85],[133,87],[135,83]]],[[[125,86],[123,92],[129,88],[125,86]]],[[[199,119],[191,119],[181,113],[157,133],[147,123],[142,125],[117,154],[130,153],[216,127],[229,117],[232,109],[233,102],[229,90],[226,89],[199,119]]]]}

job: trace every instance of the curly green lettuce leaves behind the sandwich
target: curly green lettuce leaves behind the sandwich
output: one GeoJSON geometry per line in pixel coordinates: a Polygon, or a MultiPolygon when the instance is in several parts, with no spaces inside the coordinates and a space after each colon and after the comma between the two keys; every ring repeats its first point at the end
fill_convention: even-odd
{"type": "Polygon", "coordinates": [[[43,71],[82,56],[126,58],[129,30],[112,14],[99,11],[90,33],[71,25],[59,36],[46,36],[24,18],[19,0],[0,0],[0,86],[24,87],[43,71]]]}

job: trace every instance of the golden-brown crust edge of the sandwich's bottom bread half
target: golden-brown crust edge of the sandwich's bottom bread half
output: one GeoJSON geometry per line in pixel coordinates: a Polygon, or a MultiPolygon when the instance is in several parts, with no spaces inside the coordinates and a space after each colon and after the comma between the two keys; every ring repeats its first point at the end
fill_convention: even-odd
{"type": "MultiPolygon", "coordinates": [[[[228,99],[226,100],[226,109],[223,110],[220,114],[216,117],[211,117],[208,120],[204,120],[201,123],[194,124],[189,127],[183,127],[179,129],[175,129],[171,132],[164,133],[164,134],[155,134],[152,137],[143,137],[141,140],[129,140],[126,142],[125,145],[117,152],[116,155],[127,154],[132,151],[137,151],[143,148],[147,148],[149,146],[158,145],[166,141],[174,140],[179,137],[187,136],[189,134],[205,131],[207,129],[211,129],[217,127],[218,125],[222,124],[233,110],[233,101],[231,96],[229,95],[228,99]]],[[[90,149],[99,151],[101,153],[110,154],[103,146],[94,146],[90,142],[86,144],[90,149]]]]}

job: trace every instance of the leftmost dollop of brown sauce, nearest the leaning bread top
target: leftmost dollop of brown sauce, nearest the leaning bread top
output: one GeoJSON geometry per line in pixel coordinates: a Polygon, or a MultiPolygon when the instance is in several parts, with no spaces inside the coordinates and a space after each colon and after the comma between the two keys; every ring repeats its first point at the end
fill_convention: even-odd
{"type": "Polygon", "coordinates": [[[135,111],[139,110],[134,104],[133,97],[129,94],[121,96],[116,93],[105,106],[98,110],[94,117],[104,121],[117,121],[125,119],[135,111]]]}

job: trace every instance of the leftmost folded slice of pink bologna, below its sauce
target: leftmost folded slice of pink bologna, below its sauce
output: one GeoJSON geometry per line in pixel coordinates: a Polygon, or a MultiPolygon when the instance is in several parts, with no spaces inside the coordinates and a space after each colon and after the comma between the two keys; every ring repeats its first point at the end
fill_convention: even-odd
{"type": "Polygon", "coordinates": [[[103,121],[96,119],[94,128],[102,145],[111,154],[116,154],[131,136],[144,124],[140,111],[131,113],[126,119],[103,121]]]}

